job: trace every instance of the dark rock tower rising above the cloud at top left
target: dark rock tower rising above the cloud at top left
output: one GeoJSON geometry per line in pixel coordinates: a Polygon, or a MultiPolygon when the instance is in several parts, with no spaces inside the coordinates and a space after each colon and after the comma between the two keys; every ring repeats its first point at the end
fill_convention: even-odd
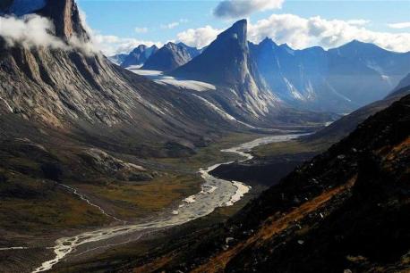
{"type": "Polygon", "coordinates": [[[75,36],[81,42],[90,40],[82,27],[80,12],[73,0],[47,0],[47,4],[38,13],[53,21],[57,37],[69,40],[75,36]]]}

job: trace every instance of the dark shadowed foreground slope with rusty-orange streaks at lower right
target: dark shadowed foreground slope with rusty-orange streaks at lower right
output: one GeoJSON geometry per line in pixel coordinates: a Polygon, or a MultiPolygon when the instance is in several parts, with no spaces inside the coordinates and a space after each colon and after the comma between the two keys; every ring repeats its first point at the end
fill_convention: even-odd
{"type": "MultiPolygon", "coordinates": [[[[410,95],[295,169],[223,227],[134,272],[410,269],[410,95]]],[[[176,243],[176,242],[175,242],[176,243]]],[[[171,245],[171,244],[168,244],[171,245]]]]}

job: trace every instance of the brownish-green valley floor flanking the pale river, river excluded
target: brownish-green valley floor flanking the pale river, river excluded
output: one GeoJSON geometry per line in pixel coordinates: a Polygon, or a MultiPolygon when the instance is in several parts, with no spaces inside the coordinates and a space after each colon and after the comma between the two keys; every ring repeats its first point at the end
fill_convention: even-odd
{"type": "MultiPolygon", "coordinates": [[[[171,215],[171,212],[178,208],[181,200],[201,191],[203,180],[197,173],[201,167],[240,158],[237,154],[221,153],[220,150],[260,136],[263,135],[234,134],[223,137],[216,144],[199,149],[197,153],[187,158],[146,160],[144,166],[150,166],[152,170],[158,172],[158,175],[149,181],[138,183],[117,181],[102,185],[64,181],[68,184],[65,185],[56,181],[33,179],[30,182],[32,186],[37,191],[40,191],[41,187],[46,187],[46,194],[49,191],[49,196],[41,201],[36,198],[30,201],[27,198],[15,197],[2,200],[0,215],[3,218],[1,221],[3,227],[0,228],[4,236],[0,242],[2,246],[0,269],[8,272],[24,271],[24,269],[30,271],[36,268],[35,265],[39,265],[40,261],[53,260],[53,249],[50,247],[61,236],[73,236],[96,227],[110,229],[112,226],[135,222],[135,219],[156,219],[171,215]],[[61,202],[62,200],[64,202],[61,202]],[[20,228],[16,229],[16,227],[20,228]]],[[[21,184],[21,187],[23,186],[27,186],[27,181],[24,185],[21,184]]],[[[245,194],[245,197],[234,206],[219,208],[211,215],[186,225],[186,228],[204,227],[227,219],[242,208],[252,196],[261,193],[265,188],[266,186],[263,185],[252,185],[251,193],[245,194]]],[[[10,191],[10,189],[3,189],[3,193],[7,190],[10,191]]],[[[156,236],[152,240],[167,236],[169,232],[178,232],[178,230],[156,231],[156,236]]],[[[118,249],[114,247],[113,250],[115,245],[126,244],[121,250],[127,249],[127,243],[133,240],[139,240],[137,252],[144,250],[148,246],[144,242],[147,239],[151,240],[150,234],[151,232],[136,232],[132,235],[127,234],[126,237],[115,236],[104,244],[90,244],[71,255],[69,262],[92,260],[97,253],[106,254],[108,249],[109,255],[118,249]]],[[[67,251],[67,248],[63,247],[63,249],[65,249],[63,252],[67,251]]],[[[65,262],[58,264],[57,269],[64,265],[65,262]]]]}

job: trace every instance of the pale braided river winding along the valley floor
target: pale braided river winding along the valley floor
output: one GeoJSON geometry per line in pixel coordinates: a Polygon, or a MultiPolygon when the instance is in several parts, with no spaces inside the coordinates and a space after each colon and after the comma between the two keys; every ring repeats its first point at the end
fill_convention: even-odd
{"type": "MultiPolygon", "coordinates": [[[[261,137],[251,142],[222,150],[222,152],[236,153],[244,157],[242,161],[247,161],[252,159],[252,154],[250,154],[250,152],[252,148],[256,146],[284,142],[303,135],[304,134],[293,134],[261,137]]],[[[229,163],[232,163],[232,161],[222,164],[229,163]]],[[[109,242],[116,237],[132,237],[135,233],[142,231],[153,232],[165,227],[179,226],[192,219],[206,216],[212,211],[215,211],[218,207],[233,205],[243,197],[243,194],[247,194],[251,187],[246,186],[242,182],[227,181],[215,178],[209,174],[211,170],[218,168],[218,166],[222,164],[216,164],[208,168],[200,169],[201,178],[204,179],[204,183],[201,186],[201,192],[185,198],[174,211],[169,213],[169,215],[161,216],[158,219],[149,219],[141,223],[127,224],[117,227],[105,227],[94,231],[83,232],[77,236],[57,239],[56,244],[53,247],[55,257],[49,261],[44,261],[40,267],[33,271],[33,273],[52,269],[56,263],[64,260],[69,254],[76,252],[80,247],[83,248],[88,245],[91,247],[97,243],[101,244],[102,241],[108,245],[110,244],[109,242]]],[[[139,237],[141,236],[138,236],[135,239],[138,239],[139,237]]]]}

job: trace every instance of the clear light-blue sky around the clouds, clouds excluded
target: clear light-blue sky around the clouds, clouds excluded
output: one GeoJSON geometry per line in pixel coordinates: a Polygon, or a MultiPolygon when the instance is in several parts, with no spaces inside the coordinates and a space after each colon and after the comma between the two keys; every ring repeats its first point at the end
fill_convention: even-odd
{"type": "MultiPolygon", "coordinates": [[[[261,0],[250,0],[250,2],[261,0]]],[[[282,0],[272,0],[282,1],[282,0]]],[[[235,2],[235,0],[234,0],[235,2]]],[[[213,14],[213,10],[220,1],[147,1],[147,0],[78,0],[81,10],[86,12],[87,21],[91,29],[98,35],[115,36],[121,39],[127,38],[138,41],[166,43],[169,40],[179,40],[178,34],[186,29],[200,29],[209,25],[212,29],[226,29],[238,18],[218,18],[213,14]]],[[[320,16],[325,21],[363,21],[357,28],[364,28],[372,32],[383,32],[391,34],[409,34],[410,27],[393,29],[388,25],[391,23],[402,23],[410,21],[410,1],[284,1],[280,9],[256,10],[246,14],[245,18],[254,24],[258,21],[268,19],[272,14],[294,14],[303,19],[320,16]]],[[[278,24],[283,24],[286,20],[274,20],[272,28],[278,28],[278,24]]],[[[292,23],[291,20],[290,23],[292,23]]],[[[287,20],[286,22],[289,22],[287,20]]],[[[289,27],[288,27],[289,28],[289,27]]],[[[334,27],[332,27],[334,28],[334,27]]],[[[256,28],[255,28],[256,29],[256,28]]],[[[254,30],[256,33],[259,30],[254,30]]],[[[295,30],[294,30],[295,31],[295,30]]],[[[355,31],[355,30],[354,30],[355,31]]],[[[372,32],[371,36],[372,36],[372,32]]],[[[266,33],[266,30],[265,30],[266,33]]],[[[270,32],[268,33],[270,35],[270,32]]],[[[271,34],[272,38],[278,38],[278,33],[271,34]]],[[[352,34],[354,36],[354,34],[352,34]]],[[[348,35],[340,39],[340,42],[348,35]]],[[[410,34],[409,34],[410,35],[410,34]]],[[[259,38],[254,35],[255,41],[259,38]]],[[[286,34],[280,34],[279,42],[286,39],[286,34]]],[[[361,34],[360,37],[363,37],[361,34]]],[[[358,39],[361,39],[358,37],[358,39]]],[[[322,37],[320,37],[321,39],[322,37]]],[[[364,35],[363,39],[367,39],[364,35]]],[[[389,38],[389,37],[388,37],[389,38]]],[[[294,37],[295,39],[295,37],[294,37]]],[[[315,42],[318,45],[327,47],[328,42],[317,41],[317,37],[309,39],[309,42],[295,43],[295,47],[311,46],[315,42]]],[[[370,39],[370,38],[369,38],[370,39]]],[[[376,37],[372,37],[376,39],[376,37]]],[[[377,38],[383,44],[382,37],[377,38]]],[[[289,37],[289,40],[292,40],[289,37]]],[[[191,41],[191,40],[190,40],[191,41]]],[[[372,40],[370,40],[372,42],[372,40]]],[[[397,40],[402,41],[402,40],[397,40]]],[[[203,44],[204,42],[202,42],[203,44]]],[[[121,44],[119,42],[118,44],[121,44]]],[[[191,41],[191,44],[194,43],[191,41]]],[[[292,41],[289,41],[292,45],[292,41]]],[[[198,44],[201,45],[201,44],[198,44]]],[[[331,43],[330,45],[337,45],[331,43]]],[[[109,51],[115,50],[114,47],[109,51]]],[[[328,47],[329,47],[328,46],[328,47]]],[[[397,45],[398,46],[398,45],[397,45]]],[[[396,49],[395,45],[385,45],[388,49],[396,49]]],[[[399,47],[397,47],[399,48],[399,47]]],[[[406,49],[406,48],[405,48],[406,49]]],[[[403,50],[401,50],[403,51],[403,50]]]]}

